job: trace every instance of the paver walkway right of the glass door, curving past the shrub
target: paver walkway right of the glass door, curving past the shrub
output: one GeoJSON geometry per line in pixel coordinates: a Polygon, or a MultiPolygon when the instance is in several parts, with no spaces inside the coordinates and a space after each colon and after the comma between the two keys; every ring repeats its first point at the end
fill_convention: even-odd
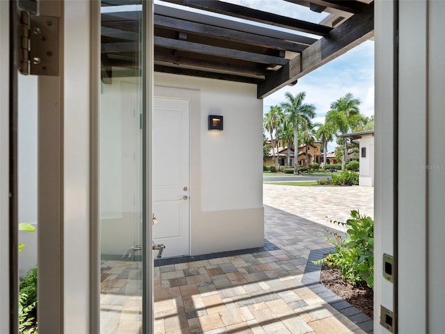
{"type": "MultiPolygon", "coordinates": [[[[363,188],[265,184],[265,237],[275,250],[156,267],[155,333],[366,333],[302,283],[311,250],[332,246],[325,226],[307,218],[326,223],[326,211],[334,218],[357,207],[372,212],[373,189],[363,188]]],[[[371,333],[369,318],[364,328],[371,333]]]]}

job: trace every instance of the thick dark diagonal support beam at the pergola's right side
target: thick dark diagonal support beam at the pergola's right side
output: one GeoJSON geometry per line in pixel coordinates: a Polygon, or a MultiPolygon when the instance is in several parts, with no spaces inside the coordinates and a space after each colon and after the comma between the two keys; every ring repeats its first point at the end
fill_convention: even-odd
{"type": "Polygon", "coordinates": [[[302,51],[300,56],[291,59],[280,70],[266,76],[266,81],[258,85],[258,98],[262,99],[280,88],[296,81],[346,51],[369,40],[374,34],[374,3],[366,6],[362,13],[350,17],[302,51]]]}

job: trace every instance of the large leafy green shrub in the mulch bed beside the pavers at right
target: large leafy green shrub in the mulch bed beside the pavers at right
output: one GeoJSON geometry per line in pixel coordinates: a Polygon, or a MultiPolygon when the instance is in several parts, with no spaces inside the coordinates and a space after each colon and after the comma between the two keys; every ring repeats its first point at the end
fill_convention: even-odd
{"type": "Polygon", "coordinates": [[[335,246],[335,252],[328,254],[316,263],[325,262],[337,267],[343,278],[353,285],[366,282],[374,285],[374,221],[371,217],[350,212],[351,218],[346,223],[331,221],[346,228],[346,237],[339,232],[330,232],[332,237],[324,235],[335,246]]]}

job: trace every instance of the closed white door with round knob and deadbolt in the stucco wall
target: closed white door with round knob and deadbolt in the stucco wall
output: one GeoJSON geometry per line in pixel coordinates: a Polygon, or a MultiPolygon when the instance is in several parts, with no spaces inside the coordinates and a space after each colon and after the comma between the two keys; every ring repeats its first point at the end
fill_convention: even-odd
{"type": "MultiPolygon", "coordinates": [[[[189,254],[189,111],[188,100],[155,97],[153,111],[153,226],[163,257],[189,254]]],[[[156,255],[156,254],[155,254],[156,255]]]]}

